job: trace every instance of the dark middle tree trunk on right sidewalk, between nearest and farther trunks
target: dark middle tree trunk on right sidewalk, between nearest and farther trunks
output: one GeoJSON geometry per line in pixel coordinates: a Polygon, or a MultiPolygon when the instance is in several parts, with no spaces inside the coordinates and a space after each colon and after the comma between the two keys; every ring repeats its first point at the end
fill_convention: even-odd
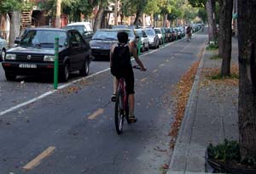
{"type": "MultiPolygon", "coordinates": [[[[230,76],[230,61],[232,51],[232,11],[233,11],[233,0],[223,0],[222,13],[223,21],[223,35],[222,42],[222,65],[221,65],[221,76],[230,76]]],[[[220,30],[219,30],[220,31],[220,30]]],[[[218,52],[219,53],[219,52],[218,52]]]]}

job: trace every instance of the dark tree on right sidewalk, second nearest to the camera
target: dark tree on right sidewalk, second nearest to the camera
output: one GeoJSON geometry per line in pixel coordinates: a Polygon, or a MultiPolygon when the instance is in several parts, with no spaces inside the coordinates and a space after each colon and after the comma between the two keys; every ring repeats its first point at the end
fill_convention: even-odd
{"type": "Polygon", "coordinates": [[[233,0],[219,1],[218,56],[222,58],[221,76],[230,76],[232,10],[233,0]]]}

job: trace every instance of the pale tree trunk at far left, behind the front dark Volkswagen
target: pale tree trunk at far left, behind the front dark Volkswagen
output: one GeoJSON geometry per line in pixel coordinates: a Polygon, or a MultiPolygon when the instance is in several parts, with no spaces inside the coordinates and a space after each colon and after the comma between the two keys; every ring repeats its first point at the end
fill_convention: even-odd
{"type": "Polygon", "coordinates": [[[20,11],[14,11],[10,21],[9,48],[15,47],[15,39],[20,35],[20,11]]]}

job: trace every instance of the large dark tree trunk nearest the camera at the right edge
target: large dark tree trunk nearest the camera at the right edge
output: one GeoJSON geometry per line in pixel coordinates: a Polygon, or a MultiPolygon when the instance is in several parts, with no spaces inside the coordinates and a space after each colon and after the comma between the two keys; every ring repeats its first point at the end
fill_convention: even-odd
{"type": "Polygon", "coordinates": [[[256,0],[238,1],[239,142],[241,159],[256,155],[256,0]]]}

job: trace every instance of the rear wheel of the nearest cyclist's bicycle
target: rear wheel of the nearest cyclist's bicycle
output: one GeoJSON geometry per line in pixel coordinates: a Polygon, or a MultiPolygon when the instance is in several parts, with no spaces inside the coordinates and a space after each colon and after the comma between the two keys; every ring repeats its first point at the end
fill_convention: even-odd
{"type": "Polygon", "coordinates": [[[115,130],[118,134],[123,131],[124,124],[124,107],[123,107],[123,93],[119,90],[116,96],[115,107],[114,107],[114,125],[115,130]]]}

